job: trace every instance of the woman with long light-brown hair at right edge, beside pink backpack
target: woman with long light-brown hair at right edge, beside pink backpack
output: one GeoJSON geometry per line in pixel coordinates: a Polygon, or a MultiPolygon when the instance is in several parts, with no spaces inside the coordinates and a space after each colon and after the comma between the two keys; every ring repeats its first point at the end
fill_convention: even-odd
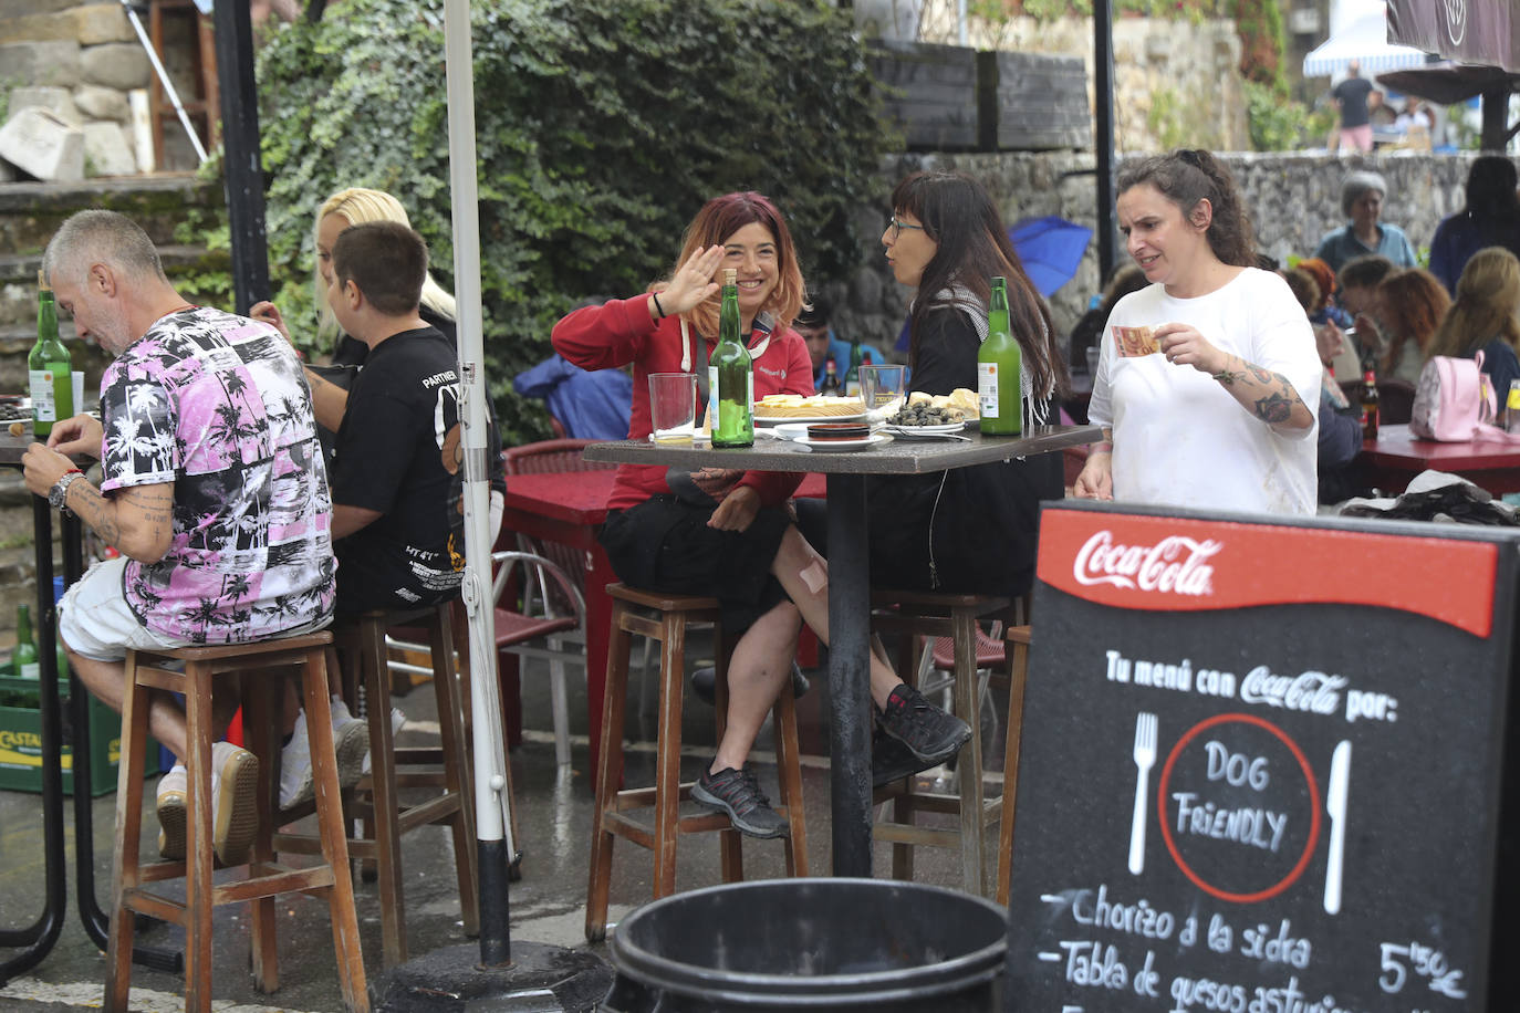
{"type": "Polygon", "coordinates": [[[1494,383],[1503,402],[1509,381],[1520,380],[1520,260],[1502,246],[1473,254],[1456,281],[1456,302],[1447,311],[1435,337],[1432,355],[1471,358],[1484,354],[1484,372],[1494,383]]]}

